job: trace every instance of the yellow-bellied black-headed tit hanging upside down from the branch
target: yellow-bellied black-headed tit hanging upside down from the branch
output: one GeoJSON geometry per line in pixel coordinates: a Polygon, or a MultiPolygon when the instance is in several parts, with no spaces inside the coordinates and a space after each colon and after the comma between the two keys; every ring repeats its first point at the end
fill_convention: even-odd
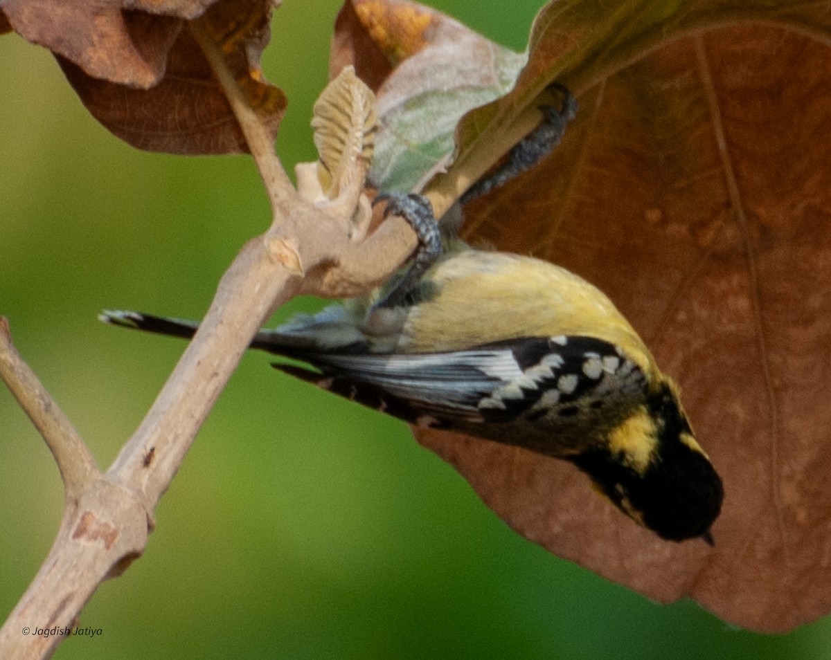
{"type": "MultiPolygon", "coordinates": [[[[413,200],[424,205],[396,197],[392,211],[413,200]]],[[[661,538],[711,542],[720,477],[678,388],[607,296],[532,257],[465,247],[428,262],[374,305],[298,315],[251,346],[307,362],[316,370],[274,366],[416,426],[573,462],[661,538]]],[[[101,320],[184,337],[196,329],[136,312],[101,320]]]]}

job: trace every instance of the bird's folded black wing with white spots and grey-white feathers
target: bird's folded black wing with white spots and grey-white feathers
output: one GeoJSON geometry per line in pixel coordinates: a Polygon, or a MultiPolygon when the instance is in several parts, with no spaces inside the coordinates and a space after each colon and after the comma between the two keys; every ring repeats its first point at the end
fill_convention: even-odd
{"type": "Polygon", "coordinates": [[[286,354],[321,373],[287,364],[274,364],[277,369],[356,403],[483,438],[494,434],[488,423],[528,423],[538,427],[535,433],[582,428],[589,418],[637,404],[646,383],[616,346],[582,336],[505,340],[446,353],[286,354]]]}

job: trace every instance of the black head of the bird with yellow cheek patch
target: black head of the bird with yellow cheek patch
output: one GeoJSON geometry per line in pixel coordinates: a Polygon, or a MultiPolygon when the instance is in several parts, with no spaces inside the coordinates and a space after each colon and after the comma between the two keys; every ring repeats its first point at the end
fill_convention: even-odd
{"type": "Polygon", "coordinates": [[[711,541],[724,489],[670,384],[650,393],[607,442],[572,461],[621,511],[662,539],[711,541]]]}

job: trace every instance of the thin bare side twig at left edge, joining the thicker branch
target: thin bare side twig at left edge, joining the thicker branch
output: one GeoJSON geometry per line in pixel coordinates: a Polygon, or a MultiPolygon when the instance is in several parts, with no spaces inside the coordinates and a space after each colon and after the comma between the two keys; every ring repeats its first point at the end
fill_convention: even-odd
{"type": "Polygon", "coordinates": [[[12,344],[8,321],[0,317],[0,378],[47,442],[61,471],[66,498],[71,499],[98,474],[81,436],[49,396],[12,344]]]}

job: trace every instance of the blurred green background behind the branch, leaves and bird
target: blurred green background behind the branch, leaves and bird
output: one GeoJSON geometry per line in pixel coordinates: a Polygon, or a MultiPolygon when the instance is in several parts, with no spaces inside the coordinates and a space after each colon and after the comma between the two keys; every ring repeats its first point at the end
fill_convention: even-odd
{"type": "MultiPolygon", "coordinates": [[[[521,50],[542,0],[436,7],[521,50]]],[[[263,58],[290,105],[288,167],[314,158],[338,0],[287,0],[263,58]]],[[[199,318],[268,222],[247,158],[145,154],[82,108],[47,51],[0,37],[0,314],[110,464],[183,350],[96,321],[199,318]]],[[[294,301],[281,310],[314,305],[294,301]]],[[[62,489],[0,389],[0,618],[47,555],[62,489]]],[[[145,556],[57,658],[828,658],[831,618],[784,636],[661,606],[515,535],[404,424],[243,359],[157,510],[145,556]]]]}

